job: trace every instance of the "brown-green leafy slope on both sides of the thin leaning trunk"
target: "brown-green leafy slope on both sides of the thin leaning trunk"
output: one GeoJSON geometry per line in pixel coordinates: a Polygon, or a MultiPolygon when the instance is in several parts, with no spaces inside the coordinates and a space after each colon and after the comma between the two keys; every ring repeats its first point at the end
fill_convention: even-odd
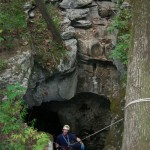
{"type": "MultiPolygon", "coordinates": [[[[57,5],[49,4],[47,10],[56,29],[61,31],[61,17],[59,15],[57,5]]],[[[35,10],[36,16],[33,19],[30,28],[32,35],[32,43],[35,47],[35,61],[43,68],[56,70],[60,59],[64,59],[66,48],[63,44],[57,43],[52,38],[51,32],[47,28],[47,23],[42,17],[39,9],[35,10]]]]}

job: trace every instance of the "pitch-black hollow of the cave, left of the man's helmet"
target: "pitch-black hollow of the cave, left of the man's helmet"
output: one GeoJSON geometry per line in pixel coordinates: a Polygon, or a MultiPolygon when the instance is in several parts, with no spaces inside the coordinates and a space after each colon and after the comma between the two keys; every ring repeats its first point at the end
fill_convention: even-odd
{"type": "Polygon", "coordinates": [[[33,124],[34,128],[36,128],[38,131],[48,132],[55,138],[61,133],[62,125],[57,112],[53,112],[48,109],[46,104],[47,103],[43,103],[41,106],[28,109],[26,122],[29,126],[33,124]]]}

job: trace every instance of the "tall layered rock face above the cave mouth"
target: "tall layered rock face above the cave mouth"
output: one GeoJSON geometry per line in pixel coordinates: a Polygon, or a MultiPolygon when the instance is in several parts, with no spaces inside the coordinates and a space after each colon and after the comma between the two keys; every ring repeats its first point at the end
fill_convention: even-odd
{"type": "Polygon", "coordinates": [[[69,100],[80,92],[115,99],[120,88],[119,73],[109,59],[109,53],[115,46],[116,37],[108,33],[110,21],[106,17],[111,17],[116,4],[63,0],[60,7],[64,18],[61,36],[69,51],[66,59],[60,61],[56,75],[44,72],[38,66],[33,69],[29,84],[32,90],[26,94],[28,104],[32,107],[52,100],[69,100]],[[104,15],[104,7],[110,8],[109,14],[104,15]]]}

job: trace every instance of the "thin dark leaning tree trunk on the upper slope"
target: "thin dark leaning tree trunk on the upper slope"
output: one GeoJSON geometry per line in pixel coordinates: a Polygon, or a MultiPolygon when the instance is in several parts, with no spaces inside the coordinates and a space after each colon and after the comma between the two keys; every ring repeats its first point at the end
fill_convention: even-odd
{"type": "Polygon", "coordinates": [[[47,23],[47,27],[50,30],[50,32],[52,33],[53,36],[53,40],[57,43],[57,44],[63,44],[63,41],[61,39],[61,36],[59,34],[59,31],[56,29],[53,20],[51,19],[51,17],[49,16],[49,13],[47,11],[47,8],[44,4],[44,0],[35,0],[36,5],[38,6],[44,20],[47,23]]]}

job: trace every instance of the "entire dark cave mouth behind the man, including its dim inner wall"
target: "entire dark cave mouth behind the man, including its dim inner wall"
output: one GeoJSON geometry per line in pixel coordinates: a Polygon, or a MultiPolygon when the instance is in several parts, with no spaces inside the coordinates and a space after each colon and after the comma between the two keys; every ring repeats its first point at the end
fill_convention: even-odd
{"type": "MultiPolygon", "coordinates": [[[[110,101],[94,93],[79,93],[70,100],[51,101],[28,110],[26,122],[36,119],[38,131],[48,132],[54,139],[62,132],[62,126],[71,126],[71,132],[83,138],[111,122],[110,101]]],[[[86,150],[103,149],[108,130],[84,141],[86,150]]]]}

